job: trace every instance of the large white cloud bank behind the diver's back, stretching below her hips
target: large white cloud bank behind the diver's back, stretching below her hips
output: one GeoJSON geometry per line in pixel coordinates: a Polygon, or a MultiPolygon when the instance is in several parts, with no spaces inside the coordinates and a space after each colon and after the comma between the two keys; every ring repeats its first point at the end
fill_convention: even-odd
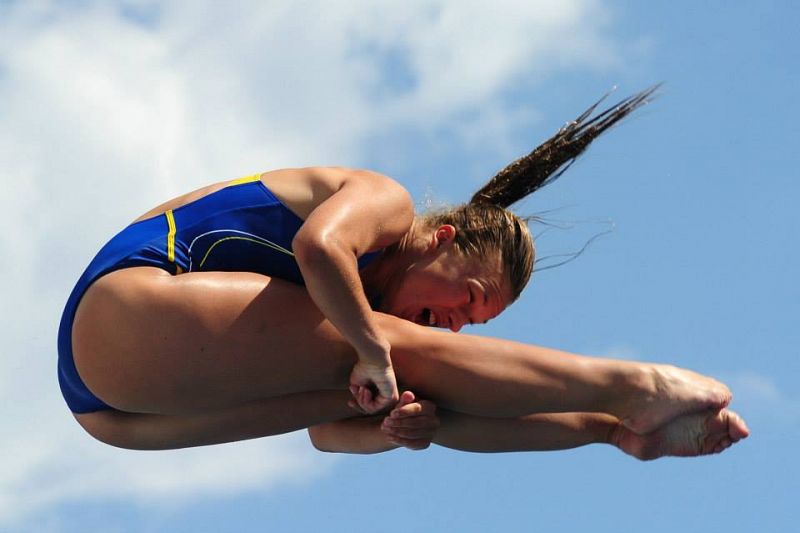
{"type": "Polygon", "coordinates": [[[383,128],[463,113],[476,117],[465,142],[503,143],[503,90],[615,64],[599,1],[487,5],[0,6],[0,523],[68,499],[192,498],[325,471],[302,437],[159,454],[94,442],[57,391],[61,308],[99,246],[168,197],[266,168],[357,164],[383,128]],[[388,92],[387,52],[408,77],[388,92]]]}

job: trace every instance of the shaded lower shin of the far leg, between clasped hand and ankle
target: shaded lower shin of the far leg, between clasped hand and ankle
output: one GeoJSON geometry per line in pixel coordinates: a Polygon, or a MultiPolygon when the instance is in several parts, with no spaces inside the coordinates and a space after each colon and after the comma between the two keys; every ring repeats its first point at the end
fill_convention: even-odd
{"type": "Polygon", "coordinates": [[[486,418],[439,412],[434,443],[469,452],[526,452],[609,443],[619,420],[604,413],[546,413],[486,418]]]}

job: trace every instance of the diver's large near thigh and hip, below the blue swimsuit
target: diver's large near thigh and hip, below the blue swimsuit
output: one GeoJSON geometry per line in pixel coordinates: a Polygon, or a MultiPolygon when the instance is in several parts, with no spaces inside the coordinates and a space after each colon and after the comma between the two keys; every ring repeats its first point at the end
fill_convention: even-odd
{"type": "Polygon", "coordinates": [[[355,362],[303,287],[246,272],[112,272],[87,290],[72,333],[86,385],[131,412],[343,389],[355,362]]]}

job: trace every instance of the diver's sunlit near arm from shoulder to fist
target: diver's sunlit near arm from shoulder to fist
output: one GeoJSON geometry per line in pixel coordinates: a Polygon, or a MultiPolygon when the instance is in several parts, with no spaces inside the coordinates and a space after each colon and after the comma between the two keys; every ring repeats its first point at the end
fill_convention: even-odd
{"type": "Polygon", "coordinates": [[[398,241],[411,226],[408,193],[379,174],[353,171],[314,208],[293,242],[297,264],[314,303],[358,355],[351,385],[360,406],[376,412],[397,401],[390,344],[373,317],[357,258],[398,241]],[[378,395],[372,397],[370,385],[378,395]]]}

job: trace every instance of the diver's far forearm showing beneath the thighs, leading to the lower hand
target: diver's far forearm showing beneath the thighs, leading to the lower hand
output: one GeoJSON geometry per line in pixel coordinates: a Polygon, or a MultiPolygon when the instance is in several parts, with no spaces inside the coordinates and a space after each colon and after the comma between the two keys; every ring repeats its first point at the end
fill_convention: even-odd
{"type": "Polygon", "coordinates": [[[381,431],[382,416],[356,417],[308,428],[314,447],[323,452],[373,454],[398,448],[381,431]]]}

